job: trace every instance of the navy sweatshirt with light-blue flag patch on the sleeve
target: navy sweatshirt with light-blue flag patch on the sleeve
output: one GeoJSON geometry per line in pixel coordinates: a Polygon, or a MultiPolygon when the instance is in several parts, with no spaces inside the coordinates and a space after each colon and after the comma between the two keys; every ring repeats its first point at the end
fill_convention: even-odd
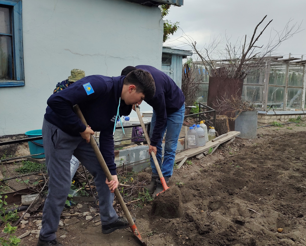
{"type": "Polygon", "coordinates": [[[113,128],[124,78],[103,75],[84,77],[51,95],[44,116],[69,135],[80,136],[86,127],[73,111],[73,105],[78,104],[91,129],[101,131],[100,151],[112,175],[116,174],[113,128]]]}

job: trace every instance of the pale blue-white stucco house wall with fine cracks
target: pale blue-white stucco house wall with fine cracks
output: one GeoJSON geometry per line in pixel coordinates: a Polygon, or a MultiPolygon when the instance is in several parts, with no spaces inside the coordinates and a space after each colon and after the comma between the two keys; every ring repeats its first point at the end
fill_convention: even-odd
{"type": "MultiPolygon", "coordinates": [[[[48,97],[73,68],[107,76],[128,65],[161,68],[157,7],[121,0],[22,4],[25,86],[0,88],[0,135],[41,129],[48,97]]],[[[151,107],[143,103],[141,110],[151,107]]]]}

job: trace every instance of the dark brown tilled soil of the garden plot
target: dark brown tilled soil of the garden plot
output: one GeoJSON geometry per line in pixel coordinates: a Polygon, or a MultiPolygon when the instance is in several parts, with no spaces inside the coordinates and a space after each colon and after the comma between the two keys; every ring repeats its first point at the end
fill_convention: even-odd
{"type": "MultiPolygon", "coordinates": [[[[236,138],[229,148],[175,171],[172,187],[135,211],[144,241],[306,245],[306,129],[299,130],[260,129],[257,139],[236,138]]],[[[86,222],[62,227],[61,235],[63,245],[139,245],[126,229],[103,235],[100,226],[86,222]]],[[[23,244],[35,245],[32,237],[23,244]]]]}

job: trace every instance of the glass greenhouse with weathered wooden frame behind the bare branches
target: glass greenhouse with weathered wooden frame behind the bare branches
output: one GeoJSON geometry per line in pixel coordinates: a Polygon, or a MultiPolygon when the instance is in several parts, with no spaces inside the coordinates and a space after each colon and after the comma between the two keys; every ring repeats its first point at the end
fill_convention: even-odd
{"type": "MultiPolygon", "coordinates": [[[[267,57],[250,69],[243,82],[242,98],[256,105],[261,119],[287,119],[288,115],[306,114],[305,64],[300,58],[267,57]],[[293,112],[294,111],[294,112],[293,112]],[[266,117],[262,117],[265,116],[266,117]],[[283,115],[283,117],[268,116],[283,115]],[[285,116],[287,115],[287,117],[285,116]]],[[[214,61],[218,64],[218,61],[214,61]]],[[[224,64],[224,61],[223,61],[224,64]]],[[[203,63],[194,62],[196,79],[200,80],[198,97],[207,102],[209,75],[203,63]]],[[[273,121],[273,120],[272,120],[273,121]]],[[[269,122],[262,121],[263,123],[269,122]]]]}

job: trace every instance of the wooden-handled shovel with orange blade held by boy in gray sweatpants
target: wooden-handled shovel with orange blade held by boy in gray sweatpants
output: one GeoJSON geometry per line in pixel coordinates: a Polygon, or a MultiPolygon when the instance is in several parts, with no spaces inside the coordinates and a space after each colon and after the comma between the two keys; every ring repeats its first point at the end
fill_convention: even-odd
{"type": "MultiPolygon", "coordinates": [[[[83,116],[83,114],[82,114],[82,112],[81,112],[79,106],[78,106],[78,105],[74,105],[74,106],[73,106],[73,109],[74,109],[74,111],[76,112],[77,116],[79,116],[79,118],[81,119],[81,121],[82,121],[82,122],[84,123],[84,125],[87,127],[88,125],[87,125],[87,123],[86,123],[86,120],[85,120],[85,118],[84,118],[84,116],[83,116]]],[[[102,154],[101,154],[101,152],[100,152],[100,149],[99,149],[99,147],[98,147],[98,145],[97,145],[97,143],[96,143],[96,141],[95,141],[93,135],[90,135],[90,142],[89,142],[89,143],[91,144],[91,147],[92,147],[92,149],[94,150],[94,152],[95,152],[95,154],[96,154],[96,156],[97,156],[97,158],[98,158],[98,161],[99,161],[99,163],[100,163],[100,165],[101,165],[101,167],[102,167],[102,169],[103,169],[103,171],[104,171],[104,173],[105,173],[107,179],[108,179],[109,181],[113,180],[113,177],[112,177],[112,175],[110,174],[110,171],[108,170],[108,167],[107,167],[107,165],[106,165],[106,163],[105,163],[105,161],[104,161],[104,159],[103,159],[103,156],[102,156],[102,154]]],[[[125,205],[125,203],[124,203],[124,200],[123,200],[123,198],[122,198],[122,196],[121,196],[121,194],[120,194],[118,188],[115,189],[115,192],[114,192],[114,193],[115,193],[115,195],[116,195],[116,197],[117,197],[117,199],[118,199],[118,201],[119,201],[119,204],[120,204],[120,206],[121,206],[121,208],[122,208],[122,210],[123,210],[123,212],[124,212],[124,214],[125,214],[126,219],[127,219],[128,222],[129,222],[129,225],[130,225],[130,227],[131,227],[131,229],[132,229],[132,233],[137,237],[137,239],[140,241],[140,244],[141,244],[141,245],[147,246],[147,244],[144,242],[144,240],[142,240],[142,238],[141,238],[141,236],[140,236],[140,233],[139,233],[138,229],[136,228],[136,225],[135,225],[135,223],[134,223],[134,221],[133,221],[133,219],[132,219],[132,216],[131,216],[131,214],[129,213],[128,208],[126,207],[126,205],[125,205]]]]}

